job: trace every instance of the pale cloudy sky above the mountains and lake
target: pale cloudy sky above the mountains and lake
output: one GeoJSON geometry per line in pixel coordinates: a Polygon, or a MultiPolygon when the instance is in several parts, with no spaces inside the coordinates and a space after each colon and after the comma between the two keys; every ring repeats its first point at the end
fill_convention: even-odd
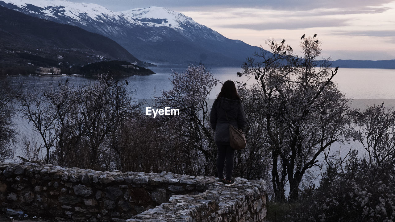
{"type": "MultiPolygon", "coordinates": [[[[112,11],[159,6],[181,12],[230,39],[267,48],[268,38],[299,45],[303,34],[337,59],[395,59],[395,0],[69,0],[112,11]]],[[[298,48],[298,47],[293,47],[298,48]]]]}

